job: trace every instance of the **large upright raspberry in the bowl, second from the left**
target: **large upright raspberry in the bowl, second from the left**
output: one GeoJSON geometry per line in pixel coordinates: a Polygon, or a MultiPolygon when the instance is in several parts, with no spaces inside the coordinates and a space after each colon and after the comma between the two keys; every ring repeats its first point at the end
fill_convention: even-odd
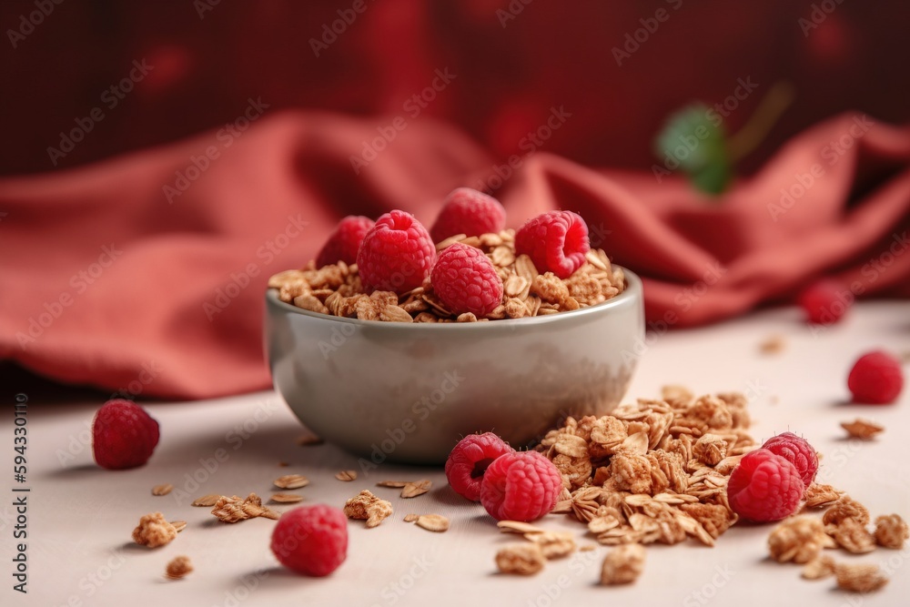
{"type": "Polygon", "coordinates": [[[436,247],[427,228],[410,213],[397,210],[376,220],[357,252],[364,288],[399,295],[420,287],[435,260],[436,247]]]}

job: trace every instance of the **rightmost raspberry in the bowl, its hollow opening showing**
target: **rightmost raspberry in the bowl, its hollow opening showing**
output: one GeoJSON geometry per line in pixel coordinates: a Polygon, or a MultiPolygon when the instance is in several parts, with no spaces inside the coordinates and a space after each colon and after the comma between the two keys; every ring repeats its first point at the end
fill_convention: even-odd
{"type": "Polygon", "coordinates": [[[515,234],[515,252],[528,255],[538,271],[569,278],[591,250],[588,225],[571,211],[550,211],[531,218],[515,234]]]}

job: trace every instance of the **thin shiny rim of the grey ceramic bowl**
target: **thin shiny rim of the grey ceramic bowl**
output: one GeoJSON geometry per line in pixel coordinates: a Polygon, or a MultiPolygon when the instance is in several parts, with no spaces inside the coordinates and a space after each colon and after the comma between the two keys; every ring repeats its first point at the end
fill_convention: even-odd
{"type": "Polygon", "coordinates": [[[565,319],[578,319],[580,317],[597,314],[612,308],[619,308],[627,300],[632,298],[643,298],[642,278],[632,272],[632,270],[614,264],[616,268],[622,268],[626,280],[626,288],[622,293],[615,297],[609,298],[601,303],[589,306],[588,308],[573,309],[568,312],[558,312],[556,314],[547,314],[545,316],[535,316],[523,319],[499,319],[490,320],[490,322],[388,322],[385,320],[364,320],[349,319],[343,316],[332,316],[322,314],[321,312],[312,312],[308,309],[298,308],[293,304],[286,303],[278,299],[278,288],[270,287],[266,289],[266,301],[268,306],[274,306],[276,309],[296,313],[311,319],[319,319],[326,322],[340,322],[352,324],[355,326],[369,327],[370,329],[394,329],[400,330],[487,330],[491,325],[503,328],[514,329],[520,326],[541,325],[551,322],[560,322],[565,319]]]}

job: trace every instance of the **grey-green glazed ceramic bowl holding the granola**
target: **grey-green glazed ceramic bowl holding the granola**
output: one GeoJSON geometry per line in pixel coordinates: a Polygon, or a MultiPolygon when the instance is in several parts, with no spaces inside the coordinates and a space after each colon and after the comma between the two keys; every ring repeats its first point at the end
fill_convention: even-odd
{"type": "Polygon", "coordinates": [[[644,339],[642,281],[597,306],[527,319],[398,323],[331,317],[266,294],[278,394],[362,466],[439,464],[466,434],[530,446],[568,415],[622,399],[644,339]]]}

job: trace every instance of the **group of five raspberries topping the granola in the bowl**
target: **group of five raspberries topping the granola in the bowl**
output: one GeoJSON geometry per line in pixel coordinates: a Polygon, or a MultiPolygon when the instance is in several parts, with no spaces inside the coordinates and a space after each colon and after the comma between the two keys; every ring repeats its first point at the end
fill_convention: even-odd
{"type": "MultiPolygon", "coordinates": [[[[343,218],[319,250],[321,268],[343,261],[357,263],[367,291],[399,295],[430,278],[433,290],[455,314],[489,314],[502,301],[502,279],[480,249],[455,243],[437,256],[436,246],[463,234],[500,232],[506,212],[496,198],[469,187],[454,190],[428,231],[410,213],[394,210],[375,224],[364,217],[343,218]]],[[[527,221],[515,234],[515,249],[531,257],[541,272],[569,278],[590,250],[588,227],[571,211],[550,211],[527,221]]]]}

